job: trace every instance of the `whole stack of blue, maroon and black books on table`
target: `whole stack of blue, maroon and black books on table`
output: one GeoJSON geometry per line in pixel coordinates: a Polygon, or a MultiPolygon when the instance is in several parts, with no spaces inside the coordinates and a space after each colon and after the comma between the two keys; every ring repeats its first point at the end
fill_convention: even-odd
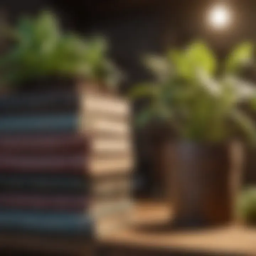
{"type": "Polygon", "coordinates": [[[131,153],[123,100],[66,92],[0,98],[1,233],[92,238],[123,222],[131,153]]]}

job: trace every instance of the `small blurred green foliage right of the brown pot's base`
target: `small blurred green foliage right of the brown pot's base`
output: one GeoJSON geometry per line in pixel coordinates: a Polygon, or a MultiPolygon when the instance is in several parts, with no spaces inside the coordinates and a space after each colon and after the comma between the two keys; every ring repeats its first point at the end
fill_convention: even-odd
{"type": "Polygon", "coordinates": [[[256,226],[256,187],[247,188],[241,192],[238,214],[244,223],[256,226]]]}

